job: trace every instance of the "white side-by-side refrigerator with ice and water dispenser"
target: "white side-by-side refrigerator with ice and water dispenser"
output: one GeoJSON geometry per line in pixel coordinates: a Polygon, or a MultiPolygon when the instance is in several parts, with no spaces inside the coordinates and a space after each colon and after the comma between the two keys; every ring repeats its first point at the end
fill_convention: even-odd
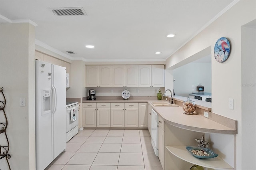
{"type": "Polygon", "coordinates": [[[66,149],[66,67],[35,60],[36,169],[66,149]]]}

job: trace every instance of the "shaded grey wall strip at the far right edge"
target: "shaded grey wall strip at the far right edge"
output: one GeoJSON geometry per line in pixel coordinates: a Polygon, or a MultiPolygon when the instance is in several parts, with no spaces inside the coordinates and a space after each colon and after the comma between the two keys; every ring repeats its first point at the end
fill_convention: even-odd
{"type": "MultiPolygon", "coordinates": [[[[242,146],[256,144],[256,21],[242,26],[242,146]],[[254,25],[254,27],[252,26],[254,25]],[[252,114],[254,113],[254,114],[252,114]]],[[[242,169],[256,169],[252,148],[242,150],[242,169]]]]}

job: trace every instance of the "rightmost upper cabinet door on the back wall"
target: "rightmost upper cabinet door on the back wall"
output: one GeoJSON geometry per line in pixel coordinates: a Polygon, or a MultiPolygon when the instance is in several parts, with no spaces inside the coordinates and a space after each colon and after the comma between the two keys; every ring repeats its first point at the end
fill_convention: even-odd
{"type": "Polygon", "coordinates": [[[164,87],[164,65],[151,65],[151,87],[164,87]]]}

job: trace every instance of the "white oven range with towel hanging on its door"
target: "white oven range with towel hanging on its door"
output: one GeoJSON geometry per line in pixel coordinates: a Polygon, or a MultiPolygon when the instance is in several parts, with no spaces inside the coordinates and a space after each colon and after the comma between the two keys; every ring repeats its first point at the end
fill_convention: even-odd
{"type": "Polygon", "coordinates": [[[67,142],[78,133],[78,102],[66,102],[67,142]]]}

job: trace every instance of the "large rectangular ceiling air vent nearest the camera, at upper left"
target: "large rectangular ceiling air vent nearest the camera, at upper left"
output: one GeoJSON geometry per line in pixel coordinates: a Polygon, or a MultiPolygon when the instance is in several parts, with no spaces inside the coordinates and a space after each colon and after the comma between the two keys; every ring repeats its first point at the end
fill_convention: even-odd
{"type": "Polygon", "coordinates": [[[83,7],[49,8],[57,16],[87,16],[83,7]]]}

